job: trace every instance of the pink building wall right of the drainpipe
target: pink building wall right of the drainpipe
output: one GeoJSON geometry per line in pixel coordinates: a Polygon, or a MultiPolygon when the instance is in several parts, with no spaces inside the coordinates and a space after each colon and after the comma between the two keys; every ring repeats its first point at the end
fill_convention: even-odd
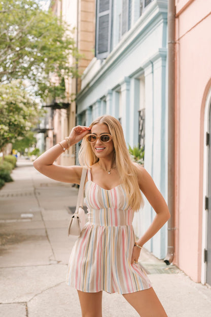
{"type": "Polygon", "coordinates": [[[201,281],[203,129],[211,84],[210,0],[176,2],[176,216],[174,263],[201,281]],[[209,84],[208,84],[209,83],[209,84]]]}

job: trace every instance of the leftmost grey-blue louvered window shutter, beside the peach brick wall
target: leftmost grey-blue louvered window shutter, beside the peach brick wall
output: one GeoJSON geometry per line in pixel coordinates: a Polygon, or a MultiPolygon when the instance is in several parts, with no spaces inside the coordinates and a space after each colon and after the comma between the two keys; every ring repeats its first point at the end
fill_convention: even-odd
{"type": "Polygon", "coordinates": [[[106,58],[111,51],[112,0],[96,1],[95,56],[106,58]]]}

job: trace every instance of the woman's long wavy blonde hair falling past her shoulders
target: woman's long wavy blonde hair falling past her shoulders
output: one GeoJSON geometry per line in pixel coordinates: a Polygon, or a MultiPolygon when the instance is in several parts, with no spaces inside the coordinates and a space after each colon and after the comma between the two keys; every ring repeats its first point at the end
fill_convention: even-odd
{"type": "MultiPolygon", "coordinates": [[[[120,175],[121,184],[124,185],[126,195],[128,197],[129,206],[138,211],[144,205],[144,199],[140,192],[137,180],[137,167],[132,162],[129,151],[127,149],[122,126],[120,122],[109,115],[101,116],[90,124],[90,128],[95,124],[106,124],[112,135],[114,143],[114,164],[120,175]]],[[[94,154],[91,145],[85,139],[82,140],[81,149],[79,151],[79,163],[81,166],[88,166],[95,164],[98,157],[94,154]]]]}

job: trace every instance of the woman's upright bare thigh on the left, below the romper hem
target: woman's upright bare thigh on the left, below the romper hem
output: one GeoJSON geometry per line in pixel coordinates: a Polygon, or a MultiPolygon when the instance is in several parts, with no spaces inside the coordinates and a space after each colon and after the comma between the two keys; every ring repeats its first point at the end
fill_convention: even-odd
{"type": "Polygon", "coordinates": [[[78,291],[82,317],[102,317],[102,291],[86,293],[78,291]]]}

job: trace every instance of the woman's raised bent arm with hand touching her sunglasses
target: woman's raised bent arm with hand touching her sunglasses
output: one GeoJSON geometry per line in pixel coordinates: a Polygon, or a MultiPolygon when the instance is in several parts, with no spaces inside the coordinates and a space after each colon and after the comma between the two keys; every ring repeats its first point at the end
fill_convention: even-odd
{"type": "MultiPolygon", "coordinates": [[[[69,134],[69,146],[78,143],[86,134],[90,132],[90,128],[86,126],[76,126],[69,134]]],[[[39,156],[33,166],[47,177],[64,183],[80,184],[82,167],[81,166],[60,166],[55,165],[54,161],[63,153],[63,148],[67,149],[68,144],[66,139],[60,144],[56,144],[48,151],[39,156]]]]}

